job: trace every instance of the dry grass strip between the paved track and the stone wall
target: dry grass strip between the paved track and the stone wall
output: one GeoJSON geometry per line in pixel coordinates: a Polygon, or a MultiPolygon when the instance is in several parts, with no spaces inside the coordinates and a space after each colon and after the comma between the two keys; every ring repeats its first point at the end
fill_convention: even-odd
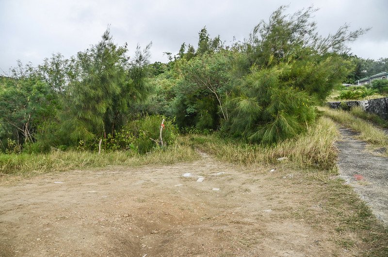
{"type": "Polygon", "coordinates": [[[330,117],[343,126],[359,132],[358,137],[361,140],[379,147],[388,146],[388,135],[383,130],[374,127],[371,123],[355,117],[350,112],[333,110],[328,107],[321,107],[319,109],[323,111],[326,117],[330,117]]]}

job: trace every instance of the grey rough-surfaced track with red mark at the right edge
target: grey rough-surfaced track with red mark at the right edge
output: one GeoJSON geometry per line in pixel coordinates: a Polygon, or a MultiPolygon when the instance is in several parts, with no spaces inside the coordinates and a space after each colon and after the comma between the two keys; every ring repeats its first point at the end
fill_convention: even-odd
{"type": "Polygon", "coordinates": [[[343,140],[338,142],[339,173],[372,208],[376,217],[388,224],[388,158],[366,151],[365,142],[356,140],[356,133],[339,129],[343,140]],[[361,175],[361,176],[359,176],[361,175]]]}

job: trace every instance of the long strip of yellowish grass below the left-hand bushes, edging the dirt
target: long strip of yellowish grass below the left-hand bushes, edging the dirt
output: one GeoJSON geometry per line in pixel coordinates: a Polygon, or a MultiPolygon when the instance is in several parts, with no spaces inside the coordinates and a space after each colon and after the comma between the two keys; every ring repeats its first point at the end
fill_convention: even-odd
{"type": "Polygon", "coordinates": [[[176,144],[146,155],[135,151],[102,152],[52,151],[47,154],[0,154],[0,174],[31,176],[45,172],[106,167],[108,165],[138,166],[194,161],[199,155],[187,145],[176,144]]]}

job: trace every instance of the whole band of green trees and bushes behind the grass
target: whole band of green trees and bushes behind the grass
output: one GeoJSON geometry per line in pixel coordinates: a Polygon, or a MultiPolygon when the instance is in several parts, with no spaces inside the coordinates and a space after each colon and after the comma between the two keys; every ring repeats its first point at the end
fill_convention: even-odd
{"type": "Polygon", "coordinates": [[[76,56],[55,54],[37,67],[19,64],[0,82],[3,151],[51,147],[104,150],[159,147],[180,131],[217,130],[247,142],[273,144],[306,130],[323,102],[356,64],[345,43],[367,30],[318,34],[312,7],[277,9],[242,42],[226,46],[206,27],[198,45],[149,64],[150,47],[101,41],[76,56]],[[151,115],[151,116],[149,116],[151,115]],[[157,116],[156,116],[157,115],[157,116]]]}

